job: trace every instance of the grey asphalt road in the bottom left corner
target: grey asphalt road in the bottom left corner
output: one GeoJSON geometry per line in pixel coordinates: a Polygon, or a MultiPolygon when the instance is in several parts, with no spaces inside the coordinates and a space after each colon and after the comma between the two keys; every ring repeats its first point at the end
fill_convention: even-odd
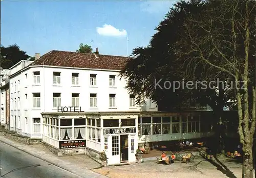
{"type": "Polygon", "coordinates": [[[2,178],[79,177],[3,142],[0,142],[0,167],[2,178]]]}

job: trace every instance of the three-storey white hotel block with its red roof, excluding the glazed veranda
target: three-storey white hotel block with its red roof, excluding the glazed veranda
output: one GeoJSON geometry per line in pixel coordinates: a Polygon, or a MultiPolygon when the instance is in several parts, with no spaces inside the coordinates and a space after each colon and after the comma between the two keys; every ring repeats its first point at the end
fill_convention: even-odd
{"type": "MultiPolygon", "coordinates": [[[[79,106],[84,112],[138,112],[134,96],[120,79],[126,57],[50,51],[35,61],[10,68],[10,128],[31,138],[42,138],[43,112],[79,106]]],[[[24,62],[27,62],[24,64],[24,62]]],[[[146,101],[148,102],[148,101],[146,101]]]]}

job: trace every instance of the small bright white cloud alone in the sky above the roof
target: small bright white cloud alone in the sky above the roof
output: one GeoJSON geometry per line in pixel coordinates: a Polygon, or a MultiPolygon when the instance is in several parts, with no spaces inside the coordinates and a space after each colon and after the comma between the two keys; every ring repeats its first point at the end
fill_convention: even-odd
{"type": "Polygon", "coordinates": [[[97,33],[103,36],[126,36],[127,32],[124,29],[116,29],[112,25],[103,25],[103,27],[96,28],[97,33]]]}

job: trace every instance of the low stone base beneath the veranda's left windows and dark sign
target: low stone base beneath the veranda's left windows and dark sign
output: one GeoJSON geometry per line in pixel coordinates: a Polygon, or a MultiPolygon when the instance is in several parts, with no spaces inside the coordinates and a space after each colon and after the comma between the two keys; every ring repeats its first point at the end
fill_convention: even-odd
{"type": "Polygon", "coordinates": [[[51,152],[53,152],[57,157],[65,157],[70,155],[82,155],[86,154],[85,148],[67,148],[67,149],[59,149],[56,148],[46,142],[42,142],[42,144],[47,147],[51,152]]]}

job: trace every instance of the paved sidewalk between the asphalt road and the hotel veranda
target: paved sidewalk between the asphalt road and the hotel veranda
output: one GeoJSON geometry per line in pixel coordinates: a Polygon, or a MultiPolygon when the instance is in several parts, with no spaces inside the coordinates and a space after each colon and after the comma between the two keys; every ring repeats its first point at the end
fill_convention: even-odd
{"type": "Polygon", "coordinates": [[[55,166],[72,172],[80,177],[85,178],[103,178],[99,173],[96,173],[90,169],[95,169],[100,167],[100,164],[89,158],[87,155],[73,155],[67,157],[57,157],[49,149],[45,148],[43,145],[24,145],[22,143],[10,140],[4,136],[0,136],[0,141],[11,145],[19,150],[23,150],[41,160],[47,161],[55,166]]]}

